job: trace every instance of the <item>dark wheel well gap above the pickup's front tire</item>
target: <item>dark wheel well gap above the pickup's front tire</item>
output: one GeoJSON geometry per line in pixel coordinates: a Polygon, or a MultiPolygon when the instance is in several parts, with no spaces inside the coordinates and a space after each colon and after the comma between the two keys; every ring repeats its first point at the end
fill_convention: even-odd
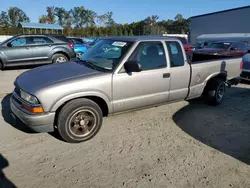
{"type": "Polygon", "coordinates": [[[108,105],[107,105],[107,103],[105,102],[105,100],[103,100],[101,97],[97,97],[97,96],[84,96],[84,97],[74,98],[74,99],[71,99],[71,100],[66,101],[65,103],[63,103],[63,104],[56,110],[56,116],[55,116],[54,125],[56,125],[57,118],[58,118],[58,115],[59,115],[61,109],[62,109],[68,102],[70,102],[70,101],[72,101],[72,100],[75,100],[75,99],[80,99],[80,98],[85,98],[85,99],[89,99],[89,100],[94,101],[94,102],[95,102],[96,104],[98,104],[98,106],[101,108],[103,117],[107,117],[107,116],[108,116],[109,109],[108,109],[108,105]]]}

